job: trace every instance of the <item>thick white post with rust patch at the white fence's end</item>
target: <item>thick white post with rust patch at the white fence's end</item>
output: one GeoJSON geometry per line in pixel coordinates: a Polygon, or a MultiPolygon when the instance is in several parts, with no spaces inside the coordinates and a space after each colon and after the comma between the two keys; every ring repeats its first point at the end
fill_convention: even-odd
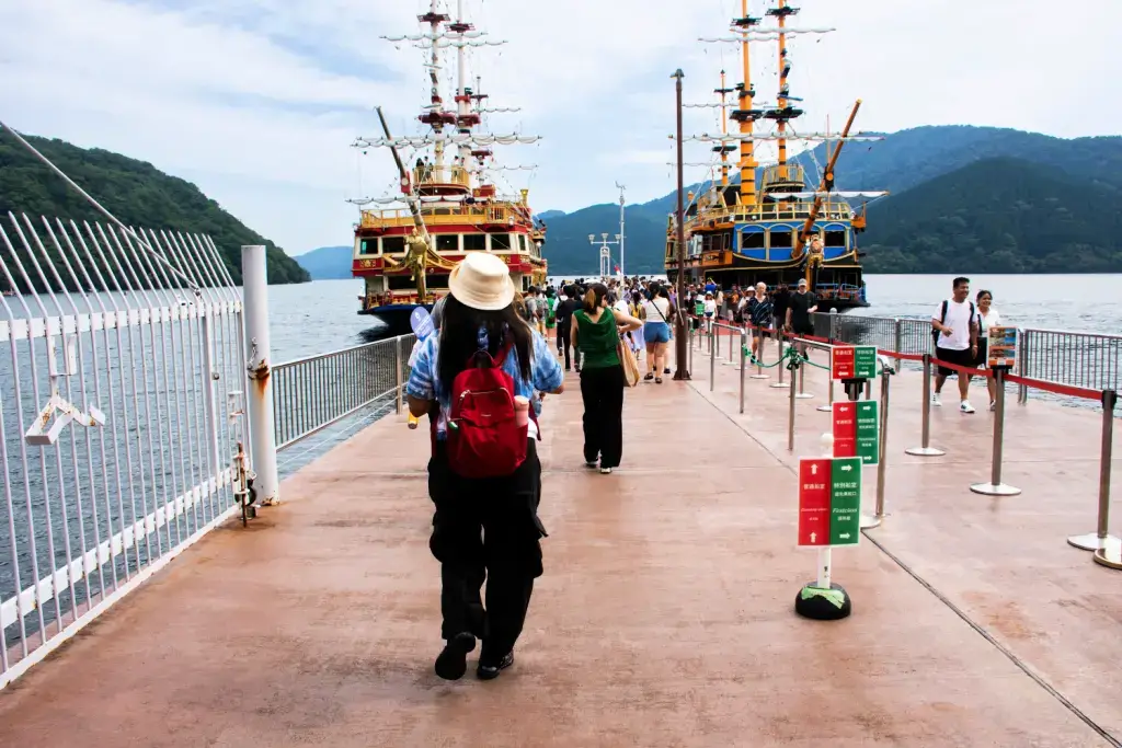
{"type": "Polygon", "coordinates": [[[249,367],[249,458],[254,488],[263,505],[279,504],[277,445],[273,425],[273,353],[269,348],[269,289],[265,248],[241,248],[241,283],[246,305],[246,360],[249,367]]]}

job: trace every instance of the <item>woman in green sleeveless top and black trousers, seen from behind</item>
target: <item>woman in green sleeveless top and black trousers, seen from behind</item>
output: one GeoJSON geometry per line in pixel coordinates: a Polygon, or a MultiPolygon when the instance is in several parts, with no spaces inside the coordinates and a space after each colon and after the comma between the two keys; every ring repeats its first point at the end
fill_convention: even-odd
{"type": "Polygon", "coordinates": [[[624,451],[624,369],[616,352],[620,333],[642,322],[608,306],[608,289],[594,283],[583,308],[572,315],[572,344],[583,357],[580,397],[585,401],[585,464],[610,473],[624,451]]]}

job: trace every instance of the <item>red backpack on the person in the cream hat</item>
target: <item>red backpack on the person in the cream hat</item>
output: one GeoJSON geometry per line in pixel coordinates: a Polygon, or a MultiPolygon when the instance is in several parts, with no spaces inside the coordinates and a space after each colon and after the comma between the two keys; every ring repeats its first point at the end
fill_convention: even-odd
{"type": "Polygon", "coordinates": [[[463,478],[509,475],[526,460],[527,427],[515,419],[514,378],[503,371],[509,352],[477,351],[452,380],[448,463],[463,478]]]}

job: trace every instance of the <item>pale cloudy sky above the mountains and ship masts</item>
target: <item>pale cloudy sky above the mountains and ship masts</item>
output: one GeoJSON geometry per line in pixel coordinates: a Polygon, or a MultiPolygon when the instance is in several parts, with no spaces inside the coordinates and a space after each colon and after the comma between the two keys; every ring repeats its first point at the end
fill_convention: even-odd
{"type": "MultiPolygon", "coordinates": [[[[728,36],[739,0],[463,0],[503,47],[473,49],[495,133],[543,136],[498,148],[534,210],[627,202],[673,188],[674,91],[712,101],[721,67],[741,80],[728,36]],[[532,10],[531,10],[532,9],[532,10]]],[[[456,0],[441,0],[456,16],[456,0]]],[[[773,0],[751,0],[761,15],[773,0]]],[[[804,0],[791,39],[802,131],[836,129],[863,99],[858,129],[991,124],[1060,137],[1122,131],[1122,2],[1077,16],[1046,0],[804,0]]],[[[388,151],[356,136],[415,133],[427,85],[422,53],[380,35],[416,34],[427,0],[0,0],[0,119],[35,135],[101,147],[194,182],[297,255],[351,241],[357,209],[387,193],[388,151]]],[[[766,25],[772,25],[767,22],[766,25]]],[[[449,53],[454,55],[453,50],[449,53]]],[[[774,101],[776,45],[754,45],[758,96],[774,101]]],[[[449,61],[454,62],[454,58],[449,61]]],[[[445,71],[451,82],[452,68],[445,71]]],[[[447,89],[447,100],[451,89],[447,89]]],[[[688,110],[687,131],[719,130],[688,110]]],[[[708,160],[688,145],[687,160],[708,160]]],[[[766,157],[766,154],[765,154],[766,157]]],[[[688,181],[707,170],[691,168],[688,181]]],[[[45,176],[44,178],[48,178],[45,176]]],[[[502,184],[502,182],[500,182],[502,184]]],[[[840,185],[844,186],[844,185],[840,185]]]]}

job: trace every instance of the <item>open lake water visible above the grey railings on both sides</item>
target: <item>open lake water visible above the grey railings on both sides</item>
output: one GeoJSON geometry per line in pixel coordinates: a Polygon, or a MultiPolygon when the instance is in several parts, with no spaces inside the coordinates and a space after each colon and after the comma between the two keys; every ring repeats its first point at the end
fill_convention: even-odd
{"type": "MultiPolygon", "coordinates": [[[[930,317],[950,295],[949,276],[865,276],[872,307],[856,314],[930,317]]],[[[1002,320],[1020,327],[1118,333],[1122,275],[974,276],[974,292],[994,295],[1002,320]]],[[[356,313],[361,280],[269,286],[273,359],[289,361],[377,339],[383,329],[356,313]]],[[[972,297],[973,293],[972,292],[972,297]]]]}

